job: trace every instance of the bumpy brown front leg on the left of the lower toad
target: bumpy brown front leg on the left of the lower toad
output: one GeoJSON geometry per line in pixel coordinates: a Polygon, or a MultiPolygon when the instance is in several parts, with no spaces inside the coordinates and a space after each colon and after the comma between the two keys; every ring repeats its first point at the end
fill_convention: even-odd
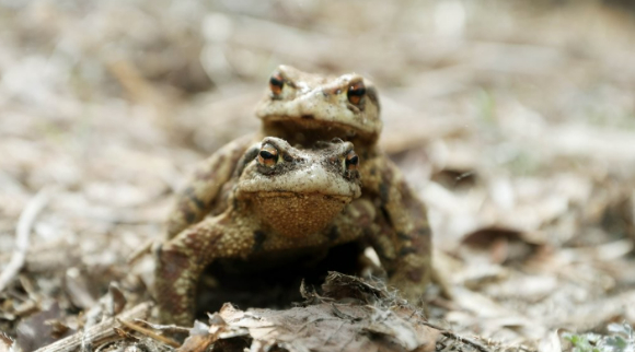
{"type": "Polygon", "coordinates": [[[203,270],[218,258],[240,258],[253,247],[254,237],[228,222],[224,214],[204,220],[155,249],[154,294],[162,322],[189,326],[203,270]]]}

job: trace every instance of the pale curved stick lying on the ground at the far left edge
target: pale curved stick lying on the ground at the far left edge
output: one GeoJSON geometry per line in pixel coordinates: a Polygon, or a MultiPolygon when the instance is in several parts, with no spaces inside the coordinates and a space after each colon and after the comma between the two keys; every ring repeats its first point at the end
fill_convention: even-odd
{"type": "Polygon", "coordinates": [[[26,251],[28,250],[31,228],[33,227],[37,214],[48,203],[50,193],[50,188],[43,188],[39,190],[37,195],[28,201],[24,211],[22,211],[22,214],[20,214],[18,228],[15,230],[15,249],[13,250],[11,261],[9,261],[9,265],[7,265],[2,273],[0,273],[0,292],[7,289],[9,283],[11,283],[22,267],[24,267],[26,251]]]}

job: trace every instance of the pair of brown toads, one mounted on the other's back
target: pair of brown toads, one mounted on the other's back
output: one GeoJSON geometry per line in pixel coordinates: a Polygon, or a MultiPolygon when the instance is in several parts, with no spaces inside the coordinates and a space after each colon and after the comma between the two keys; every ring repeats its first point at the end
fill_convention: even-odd
{"type": "Polygon", "coordinates": [[[354,240],[372,246],[389,284],[418,302],[431,274],[430,228],[377,146],[372,83],[281,66],[256,115],[261,132],[203,162],[177,196],[155,250],[161,320],[192,321],[197,281],[216,260],[284,266],[354,240]]]}

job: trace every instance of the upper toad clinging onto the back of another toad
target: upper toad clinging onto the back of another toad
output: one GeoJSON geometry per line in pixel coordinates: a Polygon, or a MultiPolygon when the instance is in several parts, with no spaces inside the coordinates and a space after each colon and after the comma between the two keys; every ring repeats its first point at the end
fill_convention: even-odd
{"type": "Polygon", "coordinates": [[[302,148],[340,138],[355,144],[361,160],[362,183],[361,198],[353,201],[344,213],[355,223],[356,209],[372,208],[371,223],[358,227],[363,227],[365,238],[378,253],[389,284],[396,286],[405,298],[418,303],[431,275],[430,228],[425,206],[377,146],[382,129],[379,110],[374,86],[360,75],[327,78],[280,66],[256,107],[261,131],[231,142],[201,163],[188,187],[177,196],[168,238],[190,226],[203,226],[197,223],[204,216],[218,214],[228,207],[229,190],[236,181],[231,177],[234,165],[264,136],[279,137],[302,148]]]}

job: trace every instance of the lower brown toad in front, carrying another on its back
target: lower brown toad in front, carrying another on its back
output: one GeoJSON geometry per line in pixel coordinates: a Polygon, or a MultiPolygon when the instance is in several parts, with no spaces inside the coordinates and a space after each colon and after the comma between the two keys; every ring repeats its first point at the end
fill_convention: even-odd
{"type": "Polygon", "coordinates": [[[346,207],[361,193],[358,163],[353,144],[342,140],[298,150],[268,137],[250,148],[229,208],[155,248],[161,320],[192,321],[197,281],[212,261],[279,265],[361,238],[374,209],[346,207]]]}

